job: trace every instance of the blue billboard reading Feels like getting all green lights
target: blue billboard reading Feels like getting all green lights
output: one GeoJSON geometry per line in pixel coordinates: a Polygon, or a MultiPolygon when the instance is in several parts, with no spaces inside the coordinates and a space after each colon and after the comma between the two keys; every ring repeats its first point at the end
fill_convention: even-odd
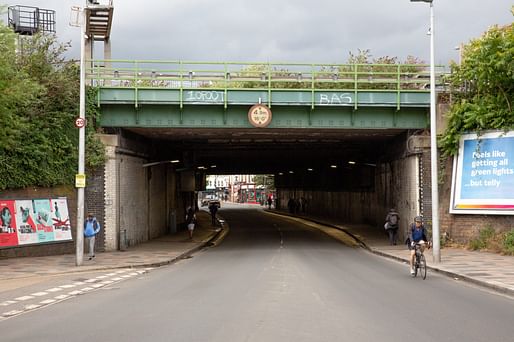
{"type": "Polygon", "coordinates": [[[514,131],[461,137],[450,213],[514,215],[514,131]]]}

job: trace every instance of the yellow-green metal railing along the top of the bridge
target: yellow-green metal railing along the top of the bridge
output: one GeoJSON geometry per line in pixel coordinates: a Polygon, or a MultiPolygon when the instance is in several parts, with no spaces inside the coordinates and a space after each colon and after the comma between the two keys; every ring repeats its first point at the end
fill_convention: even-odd
{"type": "MultiPolygon", "coordinates": [[[[430,68],[425,64],[301,64],[186,62],[148,60],[87,61],[86,79],[104,88],[178,89],[180,99],[187,90],[428,92],[430,68]]],[[[436,67],[441,84],[443,66],[436,67]]],[[[183,106],[181,101],[180,106],[183,106]]]]}

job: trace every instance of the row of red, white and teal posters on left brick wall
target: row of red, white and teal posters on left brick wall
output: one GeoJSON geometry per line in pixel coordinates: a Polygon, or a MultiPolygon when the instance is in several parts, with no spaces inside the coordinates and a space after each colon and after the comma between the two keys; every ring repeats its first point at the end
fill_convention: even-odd
{"type": "Polygon", "coordinates": [[[0,200],[0,248],[72,239],[66,197],[0,200]]]}

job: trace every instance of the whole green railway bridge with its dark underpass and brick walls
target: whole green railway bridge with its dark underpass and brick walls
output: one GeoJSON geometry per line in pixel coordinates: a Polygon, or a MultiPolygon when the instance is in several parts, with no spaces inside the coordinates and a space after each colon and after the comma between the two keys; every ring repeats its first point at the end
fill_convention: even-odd
{"type": "MultiPolygon", "coordinates": [[[[348,222],[381,225],[389,207],[398,208],[403,226],[416,214],[428,216],[428,92],[399,66],[394,73],[367,69],[362,80],[357,70],[351,68],[352,89],[318,83],[322,72],[304,71],[306,84],[298,74],[282,77],[296,82],[292,89],[273,87],[271,69],[262,89],[231,87],[236,74],[229,80],[225,71],[221,85],[183,70],[165,83],[154,71],[91,73],[108,133],[109,162],[99,177],[106,248],[178,229],[206,174],[274,174],[280,207],[301,196],[312,214],[348,222]],[[255,127],[249,113],[259,104],[272,116],[255,127]]],[[[349,81],[340,75],[330,82],[349,81]]]]}

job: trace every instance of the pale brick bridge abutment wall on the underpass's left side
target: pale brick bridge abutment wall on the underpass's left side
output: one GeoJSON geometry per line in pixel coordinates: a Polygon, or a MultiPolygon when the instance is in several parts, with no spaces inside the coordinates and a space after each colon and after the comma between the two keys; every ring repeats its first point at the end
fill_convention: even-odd
{"type": "Polygon", "coordinates": [[[88,184],[86,206],[101,213],[97,214],[104,226],[100,248],[123,250],[176,230],[186,204],[172,165],[148,165],[149,147],[122,135],[99,137],[107,159],[103,174],[88,184]]]}

